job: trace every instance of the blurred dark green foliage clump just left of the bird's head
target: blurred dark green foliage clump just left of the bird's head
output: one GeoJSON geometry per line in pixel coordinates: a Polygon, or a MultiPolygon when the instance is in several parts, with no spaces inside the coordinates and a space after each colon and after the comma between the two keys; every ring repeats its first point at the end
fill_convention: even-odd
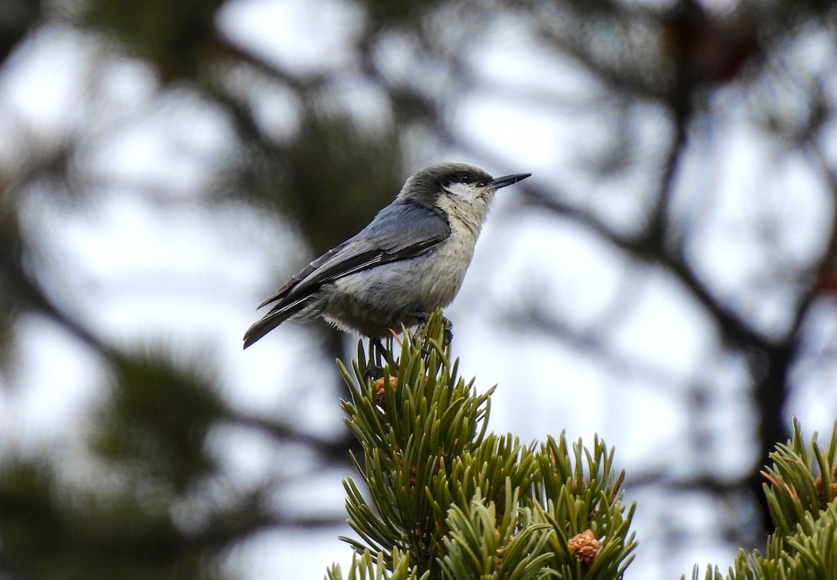
{"type": "Polygon", "coordinates": [[[377,134],[346,115],[306,111],[290,142],[256,147],[231,160],[228,190],[294,215],[317,254],[356,234],[401,187],[393,127],[377,134]],[[233,189],[242,180],[248,188],[233,189]]]}

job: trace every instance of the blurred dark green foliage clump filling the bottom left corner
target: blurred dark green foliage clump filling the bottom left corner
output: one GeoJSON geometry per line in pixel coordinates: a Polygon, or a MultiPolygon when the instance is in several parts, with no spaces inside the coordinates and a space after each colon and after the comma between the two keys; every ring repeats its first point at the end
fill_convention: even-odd
{"type": "Polygon", "coordinates": [[[216,546],[177,529],[167,505],[70,488],[46,461],[3,463],[0,535],[4,578],[222,577],[216,546]]]}

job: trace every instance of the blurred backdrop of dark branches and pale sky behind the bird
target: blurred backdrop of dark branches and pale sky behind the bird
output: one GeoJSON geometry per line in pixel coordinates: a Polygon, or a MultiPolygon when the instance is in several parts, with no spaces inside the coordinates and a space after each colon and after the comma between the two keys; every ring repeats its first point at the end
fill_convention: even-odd
{"type": "Polygon", "coordinates": [[[502,189],[454,354],[616,447],[633,579],[769,531],[837,417],[828,0],[0,0],[0,578],[348,562],[356,337],[256,304],[429,163],[502,189]]]}

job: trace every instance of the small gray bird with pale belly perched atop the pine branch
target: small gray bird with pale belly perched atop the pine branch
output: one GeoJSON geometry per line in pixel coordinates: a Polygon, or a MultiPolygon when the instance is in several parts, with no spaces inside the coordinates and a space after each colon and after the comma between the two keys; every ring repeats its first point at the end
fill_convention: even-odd
{"type": "Polygon", "coordinates": [[[285,320],[323,318],[376,340],[424,323],[459,292],[496,190],[530,175],[494,178],[452,162],[413,173],[369,225],[259,304],[273,306],[244,334],[244,348],[285,320]]]}

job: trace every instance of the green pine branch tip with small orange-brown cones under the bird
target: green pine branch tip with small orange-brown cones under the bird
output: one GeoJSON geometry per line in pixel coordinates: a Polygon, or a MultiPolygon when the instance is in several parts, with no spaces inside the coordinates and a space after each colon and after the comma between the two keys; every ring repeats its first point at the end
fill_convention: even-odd
{"type": "MultiPolygon", "coordinates": [[[[598,438],[521,444],[486,430],[493,388],[478,393],[450,360],[441,311],[420,334],[405,331],[400,355],[358,348],[339,363],[352,401],[347,426],[366,491],[347,479],[349,525],[359,539],[349,578],[622,577],[635,542],[624,474],[598,438]]],[[[328,572],[341,577],[338,567],[328,572]]]]}

